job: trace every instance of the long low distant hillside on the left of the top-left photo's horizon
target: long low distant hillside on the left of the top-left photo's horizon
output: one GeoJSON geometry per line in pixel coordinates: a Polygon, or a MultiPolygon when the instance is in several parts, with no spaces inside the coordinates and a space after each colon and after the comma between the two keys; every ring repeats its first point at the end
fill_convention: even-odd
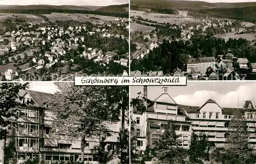
{"type": "Polygon", "coordinates": [[[27,6],[20,6],[20,5],[2,5],[0,6],[0,10],[87,10],[92,11],[93,9],[90,7],[85,6],[72,6],[72,5],[61,5],[61,6],[54,6],[54,5],[27,5],[27,6]]]}

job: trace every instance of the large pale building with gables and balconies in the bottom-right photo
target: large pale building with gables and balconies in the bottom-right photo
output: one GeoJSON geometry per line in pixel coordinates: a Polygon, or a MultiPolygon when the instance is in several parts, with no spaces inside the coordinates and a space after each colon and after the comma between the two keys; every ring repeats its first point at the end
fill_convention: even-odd
{"type": "MultiPolygon", "coordinates": [[[[144,86],[143,97],[147,97],[147,87],[144,86]]],[[[151,96],[152,97],[152,96],[151,96]]],[[[142,100],[141,103],[144,103],[142,100]]],[[[145,112],[133,108],[133,137],[138,149],[145,151],[153,149],[164,130],[167,120],[173,120],[180,135],[180,146],[188,148],[193,136],[204,133],[208,136],[212,146],[223,147],[228,137],[228,125],[236,110],[241,109],[248,121],[248,130],[256,129],[256,108],[251,101],[246,101],[243,108],[226,108],[214,100],[207,100],[201,106],[188,106],[177,104],[168,94],[168,87],[162,87],[161,95],[148,105],[145,112]]],[[[251,133],[249,142],[256,146],[256,135],[251,133]]]]}

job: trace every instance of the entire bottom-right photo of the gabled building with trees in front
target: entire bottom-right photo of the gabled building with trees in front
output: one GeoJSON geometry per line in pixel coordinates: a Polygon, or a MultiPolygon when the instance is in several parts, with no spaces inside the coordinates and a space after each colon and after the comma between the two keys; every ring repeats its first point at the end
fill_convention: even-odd
{"type": "Polygon", "coordinates": [[[256,83],[131,86],[131,163],[255,163],[256,83]]]}

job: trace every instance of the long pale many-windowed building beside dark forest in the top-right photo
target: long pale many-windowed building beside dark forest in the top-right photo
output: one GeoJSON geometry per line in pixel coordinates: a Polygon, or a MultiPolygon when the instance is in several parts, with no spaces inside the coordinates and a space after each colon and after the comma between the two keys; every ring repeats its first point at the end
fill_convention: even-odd
{"type": "Polygon", "coordinates": [[[187,62],[187,72],[191,72],[192,69],[206,69],[209,66],[216,68],[215,57],[191,58],[187,62]]]}

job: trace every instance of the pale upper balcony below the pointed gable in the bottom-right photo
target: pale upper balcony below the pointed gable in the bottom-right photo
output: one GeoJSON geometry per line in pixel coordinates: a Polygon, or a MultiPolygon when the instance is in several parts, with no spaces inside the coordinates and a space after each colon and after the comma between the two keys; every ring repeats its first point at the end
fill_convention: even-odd
{"type": "Polygon", "coordinates": [[[174,114],[160,114],[160,113],[146,113],[147,119],[157,119],[157,120],[173,120],[173,121],[181,121],[185,122],[186,118],[182,115],[174,115],[174,114]]]}

